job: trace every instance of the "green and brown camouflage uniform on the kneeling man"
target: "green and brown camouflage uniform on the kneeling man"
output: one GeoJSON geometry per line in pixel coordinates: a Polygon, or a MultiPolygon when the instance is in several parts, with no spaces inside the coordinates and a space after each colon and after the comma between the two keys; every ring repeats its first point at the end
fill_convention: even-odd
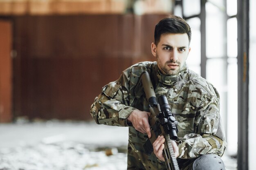
{"type": "Polygon", "coordinates": [[[126,118],[135,110],[148,111],[146,96],[139,77],[148,71],[155,94],[166,95],[171,112],[178,123],[177,144],[180,169],[188,169],[191,160],[204,154],[222,156],[227,143],[221,128],[219,94],[204,78],[187,69],[177,75],[162,75],[157,62],[141,62],[122,72],[119,79],[104,86],[95,98],[90,113],[97,124],[129,126],[128,170],[164,170],[165,163],[152,153],[146,155],[143,145],[146,134],[127,124],[126,118]]]}

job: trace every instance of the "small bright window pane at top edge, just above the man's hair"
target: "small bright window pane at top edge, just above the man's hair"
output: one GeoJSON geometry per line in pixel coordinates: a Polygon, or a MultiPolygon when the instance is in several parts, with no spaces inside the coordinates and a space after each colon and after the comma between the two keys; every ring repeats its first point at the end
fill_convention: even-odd
{"type": "Polygon", "coordinates": [[[183,0],[183,13],[188,17],[200,13],[200,0],[183,0]]]}

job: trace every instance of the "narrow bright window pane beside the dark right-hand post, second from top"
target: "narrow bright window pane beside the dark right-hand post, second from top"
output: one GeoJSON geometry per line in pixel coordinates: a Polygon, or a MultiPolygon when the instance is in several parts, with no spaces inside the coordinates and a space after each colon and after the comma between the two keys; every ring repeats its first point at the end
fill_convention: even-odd
{"type": "Polygon", "coordinates": [[[237,57],[237,19],[227,20],[227,56],[237,57]]]}

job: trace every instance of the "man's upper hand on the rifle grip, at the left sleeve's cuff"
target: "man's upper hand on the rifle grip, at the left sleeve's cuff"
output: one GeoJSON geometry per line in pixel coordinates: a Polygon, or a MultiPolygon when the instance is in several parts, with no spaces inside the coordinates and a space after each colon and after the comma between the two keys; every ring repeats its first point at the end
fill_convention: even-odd
{"type": "Polygon", "coordinates": [[[147,133],[148,137],[151,137],[150,126],[148,123],[148,117],[150,113],[140,110],[133,110],[127,117],[127,120],[132,123],[132,126],[141,133],[147,133]]]}

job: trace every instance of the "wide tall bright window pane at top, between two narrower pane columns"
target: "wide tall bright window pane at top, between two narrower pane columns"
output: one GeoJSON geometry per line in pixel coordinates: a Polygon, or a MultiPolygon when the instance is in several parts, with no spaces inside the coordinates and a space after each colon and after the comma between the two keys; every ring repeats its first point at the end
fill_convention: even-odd
{"type": "Polygon", "coordinates": [[[206,55],[207,57],[225,56],[225,13],[215,5],[206,3],[206,55]]]}

